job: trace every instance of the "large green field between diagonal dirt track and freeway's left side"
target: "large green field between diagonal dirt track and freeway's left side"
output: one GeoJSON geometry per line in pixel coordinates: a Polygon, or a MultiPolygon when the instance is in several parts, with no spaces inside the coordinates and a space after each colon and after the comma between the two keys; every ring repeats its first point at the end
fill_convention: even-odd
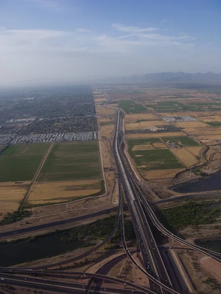
{"type": "Polygon", "coordinates": [[[38,181],[70,181],[102,178],[98,142],[57,143],[38,181]]]}

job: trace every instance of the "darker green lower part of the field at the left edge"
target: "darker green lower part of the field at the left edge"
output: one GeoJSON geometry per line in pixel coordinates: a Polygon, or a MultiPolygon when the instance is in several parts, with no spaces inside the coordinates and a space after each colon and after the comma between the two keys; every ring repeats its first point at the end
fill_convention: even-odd
{"type": "Polygon", "coordinates": [[[32,180],[42,158],[42,154],[0,156],[0,182],[32,180]]]}

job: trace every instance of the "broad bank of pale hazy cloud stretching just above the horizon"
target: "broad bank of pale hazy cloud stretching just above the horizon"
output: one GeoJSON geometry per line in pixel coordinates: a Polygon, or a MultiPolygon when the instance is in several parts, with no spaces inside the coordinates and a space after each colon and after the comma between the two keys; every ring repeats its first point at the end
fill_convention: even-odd
{"type": "Polygon", "coordinates": [[[87,33],[84,28],[65,31],[0,26],[0,84],[29,79],[74,82],[98,74],[218,72],[221,49],[215,49],[214,44],[199,46],[197,39],[192,40],[188,33],[165,35],[160,29],[155,32],[138,26],[112,34],[87,33]]]}

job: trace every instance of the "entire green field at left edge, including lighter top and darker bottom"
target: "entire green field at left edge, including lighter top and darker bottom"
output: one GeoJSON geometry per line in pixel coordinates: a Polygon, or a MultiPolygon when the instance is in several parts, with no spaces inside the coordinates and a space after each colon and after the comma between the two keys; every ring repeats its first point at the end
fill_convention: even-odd
{"type": "Polygon", "coordinates": [[[50,143],[5,147],[0,153],[0,182],[31,181],[50,143]]]}

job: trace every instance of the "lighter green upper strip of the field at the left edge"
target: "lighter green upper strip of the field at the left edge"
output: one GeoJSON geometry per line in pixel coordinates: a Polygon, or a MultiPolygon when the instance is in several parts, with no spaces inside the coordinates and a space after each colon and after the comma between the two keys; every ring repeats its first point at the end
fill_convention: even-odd
{"type": "Polygon", "coordinates": [[[8,145],[0,156],[46,154],[51,143],[8,145]]]}

